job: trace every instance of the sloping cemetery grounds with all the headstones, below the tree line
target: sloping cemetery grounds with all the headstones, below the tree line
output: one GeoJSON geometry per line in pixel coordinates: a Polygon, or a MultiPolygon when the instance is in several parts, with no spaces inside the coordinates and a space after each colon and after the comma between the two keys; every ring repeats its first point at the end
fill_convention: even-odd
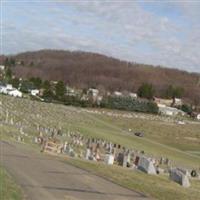
{"type": "MultiPolygon", "coordinates": [[[[169,128],[176,130],[174,127],[179,119],[1,97],[0,126],[3,139],[30,144],[41,153],[72,158],[68,162],[74,165],[79,163],[83,168],[86,167],[84,163],[88,163],[87,167],[100,166],[108,169],[108,172],[119,170],[130,176],[134,173],[138,176],[139,173],[139,179],[152,176],[162,180],[164,177],[169,184],[180,186],[183,193],[184,188],[196,188],[196,184],[200,186],[200,157],[181,151],[187,146],[175,149],[173,145],[162,143],[162,139],[153,140],[155,136],[149,137],[148,131],[151,130],[141,125],[148,120],[150,124],[164,124],[168,127],[165,131],[169,128]],[[139,120],[143,130],[137,124],[139,120]],[[131,121],[136,124],[130,124],[131,121]],[[123,124],[125,122],[126,127],[123,124]]],[[[200,124],[188,120],[184,126],[186,130],[194,127],[190,137],[197,137],[192,144],[197,142],[196,151],[200,141],[200,124]]],[[[174,135],[178,137],[178,131],[174,131],[174,135]]]]}

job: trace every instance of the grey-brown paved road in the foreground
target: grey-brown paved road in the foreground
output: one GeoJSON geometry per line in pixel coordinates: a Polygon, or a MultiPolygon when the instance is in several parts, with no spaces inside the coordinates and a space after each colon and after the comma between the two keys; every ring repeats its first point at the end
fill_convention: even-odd
{"type": "Polygon", "coordinates": [[[78,169],[57,158],[0,141],[1,163],[29,200],[145,200],[142,194],[78,169]]]}

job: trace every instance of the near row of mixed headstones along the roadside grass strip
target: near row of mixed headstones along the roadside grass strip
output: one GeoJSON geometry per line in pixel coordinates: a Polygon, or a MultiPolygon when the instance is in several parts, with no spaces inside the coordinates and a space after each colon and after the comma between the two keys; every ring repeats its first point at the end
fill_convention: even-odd
{"type": "MultiPolygon", "coordinates": [[[[144,152],[126,150],[121,145],[113,144],[102,139],[86,139],[80,133],[76,134],[74,132],[69,132],[68,137],[71,137],[73,142],[65,142],[63,152],[73,157],[76,156],[76,152],[72,146],[74,144],[79,145],[81,141],[86,146],[84,158],[87,160],[104,161],[108,165],[117,163],[120,166],[136,168],[148,174],[166,172],[159,168],[159,165],[166,164],[170,166],[170,160],[167,158],[160,158],[159,160],[148,158],[144,156],[144,152]],[[101,148],[105,150],[105,155],[101,155],[101,148]]],[[[83,157],[83,152],[81,152],[80,157],[83,157]]],[[[183,173],[183,170],[172,169],[169,171],[169,177],[183,187],[190,186],[189,177],[186,173],[183,173]]]]}

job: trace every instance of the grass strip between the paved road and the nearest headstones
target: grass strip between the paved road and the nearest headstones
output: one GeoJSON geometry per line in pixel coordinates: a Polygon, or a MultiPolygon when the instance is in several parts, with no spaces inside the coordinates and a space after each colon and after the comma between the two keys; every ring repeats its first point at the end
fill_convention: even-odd
{"type": "Polygon", "coordinates": [[[66,159],[67,163],[102,176],[123,187],[142,192],[159,200],[198,200],[200,199],[200,181],[192,180],[190,188],[183,188],[169,180],[166,175],[148,175],[118,166],[107,166],[78,159],[66,159]]]}

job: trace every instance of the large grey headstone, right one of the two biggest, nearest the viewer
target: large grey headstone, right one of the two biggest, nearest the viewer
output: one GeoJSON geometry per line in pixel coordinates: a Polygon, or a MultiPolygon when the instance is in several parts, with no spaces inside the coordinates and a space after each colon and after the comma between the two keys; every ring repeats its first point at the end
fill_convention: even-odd
{"type": "Polygon", "coordinates": [[[189,178],[187,175],[185,175],[182,171],[179,169],[171,169],[169,173],[169,178],[172,181],[175,181],[176,183],[182,185],[183,187],[190,187],[189,178]]]}

